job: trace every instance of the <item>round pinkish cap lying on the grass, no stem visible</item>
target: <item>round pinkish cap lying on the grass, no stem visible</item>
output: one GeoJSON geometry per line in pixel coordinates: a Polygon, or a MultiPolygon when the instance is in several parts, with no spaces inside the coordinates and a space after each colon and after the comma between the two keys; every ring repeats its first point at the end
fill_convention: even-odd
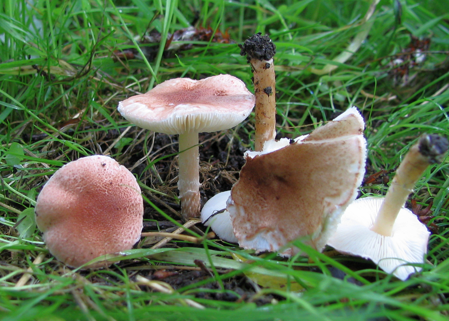
{"type": "MultiPolygon", "coordinates": [[[[67,163],[42,188],[35,207],[43,239],[59,261],[79,267],[97,256],[131,249],[143,227],[136,178],[108,156],[67,163]]],[[[106,267],[98,262],[86,268],[106,267]]]]}

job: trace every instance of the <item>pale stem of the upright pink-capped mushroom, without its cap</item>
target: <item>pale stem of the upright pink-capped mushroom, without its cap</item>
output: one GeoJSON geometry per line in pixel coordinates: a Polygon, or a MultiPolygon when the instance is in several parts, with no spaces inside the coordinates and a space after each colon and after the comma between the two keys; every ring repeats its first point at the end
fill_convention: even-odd
{"type": "Polygon", "coordinates": [[[181,214],[184,219],[200,217],[200,153],[198,133],[179,135],[179,180],[181,214]]]}

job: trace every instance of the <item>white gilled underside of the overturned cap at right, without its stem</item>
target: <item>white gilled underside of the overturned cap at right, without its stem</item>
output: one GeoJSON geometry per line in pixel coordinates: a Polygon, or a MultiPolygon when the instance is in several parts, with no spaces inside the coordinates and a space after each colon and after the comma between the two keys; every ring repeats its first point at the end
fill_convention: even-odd
{"type": "Polygon", "coordinates": [[[421,271],[420,267],[404,264],[424,263],[430,232],[406,208],[399,211],[391,236],[372,231],[383,199],[365,197],[351,203],[327,244],[343,254],[370,259],[404,281],[410,274],[421,271]]]}

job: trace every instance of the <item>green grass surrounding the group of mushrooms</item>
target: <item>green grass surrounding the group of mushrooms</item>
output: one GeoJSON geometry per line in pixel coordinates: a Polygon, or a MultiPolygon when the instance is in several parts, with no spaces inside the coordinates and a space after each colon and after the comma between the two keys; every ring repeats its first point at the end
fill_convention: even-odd
{"type": "MultiPolygon", "coordinates": [[[[177,218],[152,196],[155,190],[154,195],[176,206],[176,170],[164,177],[155,170],[158,164],[173,162],[173,157],[160,158],[176,148],[152,149],[153,133],[128,129],[129,123],[116,111],[117,103],[176,77],[200,79],[225,73],[252,88],[250,68],[236,43],[254,32],[269,33],[277,46],[279,137],[307,133],[332,119],[334,112],[355,105],[366,118],[367,175],[394,170],[421,133],[449,137],[449,15],[442,9],[449,7],[449,1],[381,0],[365,21],[369,6],[369,1],[359,0],[3,0],[0,320],[447,320],[447,158],[429,167],[411,196],[422,204],[433,201],[433,221],[439,230],[431,236],[423,273],[405,282],[359,258],[328,258],[312,251],[316,263],[305,257],[278,260],[214,240],[200,246],[172,242],[158,250],[137,248],[127,251],[125,259],[111,258],[117,265],[108,270],[71,271],[47,253],[31,219],[36,196],[55,170],[81,156],[105,151],[128,168],[143,158],[135,173],[147,186],[145,218],[177,218]],[[196,16],[197,28],[227,31],[234,42],[200,41],[176,55],[164,53],[166,35],[190,26],[196,16]],[[153,44],[151,60],[142,55],[151,45],[138,45],[152,31],[162,34],[163,40],[153,44]],[[368,36],[361,39],[360,48],[346,61],[334,61],[363,31],[368,36]],[[411,35],[431,38],[431,46],[425,62],[411,68],[409,81],[402,84],[389,62],[408,47],[411,35]],[[113,59],[114,51],[130,48],[142,57],[113,59]],[[335,70],[319,75],[318,70],[334,65],[335,70]],[[128,131],[120,137],[124,130],[128,131]],[[34,265],[42,252],[42,263],[34,265]],[[229,253],[253,263],[239,264],[229,253]],[[214,267],[213,277],[172,293],[151,290],[137,281],[137,275],[149,276],[148,269],[155,265],[195,266],[193,260],[198,258],[214,267]],[[31,280],[14,287],[28,267],[31,280]],[[345,272],[343,280],[332,276],[334,268],[345,272]],[[306,290],[290,291],[287,282],[282,289],[266,287],[245,297],[215,286],[229,280],[247,284],[242,272],[250,271],[285,277],[306,290]],[[199,295],[204,293],[212,295],[199,295]],[[228,302],[217,293],[240,299],[228,302]],[[186,299],[205,309],[190,306],[186,299]]],[[[252,147],[252,137],[251,117],[237,129],[216,136],[243,148],[252,147]]],[[[216,177],[220,166],[224,168],[223,163],[208,167],[210,159],[201,161],[205,181],[216,177]]],[[[237,177],[234,172],[226,175],[230,181],[237,177]]],[[[362,193],[386,190],[383,184],[361,188],[362,193]]]]}

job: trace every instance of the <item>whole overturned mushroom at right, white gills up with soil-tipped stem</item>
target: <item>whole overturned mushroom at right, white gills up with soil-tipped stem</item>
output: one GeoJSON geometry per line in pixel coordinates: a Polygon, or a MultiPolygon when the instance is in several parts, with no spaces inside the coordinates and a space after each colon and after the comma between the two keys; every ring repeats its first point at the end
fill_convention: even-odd
{"type": "Polygon", "coordinates": [[[399,165],[385,198],[366,197],[350,204],[328,245],[337,251],[371,259],[401,280],[421,271],[404,265],[424,263],[430,232],[404,204],[429,164],[439,161],[448,141],[424,134],[399,165]]]}

